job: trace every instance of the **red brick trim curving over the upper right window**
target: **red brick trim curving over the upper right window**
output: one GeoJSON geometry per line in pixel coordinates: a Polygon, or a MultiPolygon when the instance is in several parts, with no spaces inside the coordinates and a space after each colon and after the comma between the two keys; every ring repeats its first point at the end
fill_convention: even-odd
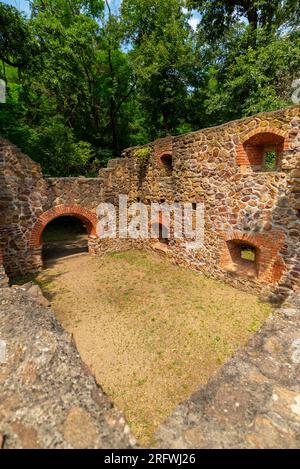
{"type": "Polygon", "coordinates": [[[272,136],[274,136],[275,145],[282,143],[281,151],[289,150],[290,140],[287,131],[277,129],[276,127],[257,127],[256,129],[253,129],[245,134],[237,147],[237,164],[239,166],[249,166],[251,164],[246,149],[247,142],[251,141],[251,139],[254,139],[256,136],[259,137],[263,135],[268,136],[268,143],[270,144],[272,143],[270,140],[270,137],[272,136]]]}

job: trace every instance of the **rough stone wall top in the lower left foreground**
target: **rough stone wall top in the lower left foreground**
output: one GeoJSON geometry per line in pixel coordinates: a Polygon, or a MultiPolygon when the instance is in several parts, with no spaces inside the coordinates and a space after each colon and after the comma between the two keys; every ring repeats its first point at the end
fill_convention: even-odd
{"type": "Polygon", "coordinates": [[[22,289],[0,289],[0,338],[0,449],[135,447],[51,309],[22,289]]]}

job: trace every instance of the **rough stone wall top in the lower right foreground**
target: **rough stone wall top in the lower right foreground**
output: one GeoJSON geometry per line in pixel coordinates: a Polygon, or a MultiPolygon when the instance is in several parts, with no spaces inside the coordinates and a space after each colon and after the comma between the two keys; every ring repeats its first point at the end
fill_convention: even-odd
{"type": "Polygon", "coordinates": [[[293,294],[157,432],[161,448],[300,448],[300,295],[293,294]]]}

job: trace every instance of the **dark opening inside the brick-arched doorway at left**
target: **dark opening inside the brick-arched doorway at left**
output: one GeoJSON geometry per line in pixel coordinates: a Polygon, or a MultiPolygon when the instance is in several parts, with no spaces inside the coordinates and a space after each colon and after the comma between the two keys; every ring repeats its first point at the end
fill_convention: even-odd
{"type": "Polygon", "coordinates": [[[87,226],[77,217],[61,216],[50,221],[42,233],[43,261],[88,252],[87,226]]]}

